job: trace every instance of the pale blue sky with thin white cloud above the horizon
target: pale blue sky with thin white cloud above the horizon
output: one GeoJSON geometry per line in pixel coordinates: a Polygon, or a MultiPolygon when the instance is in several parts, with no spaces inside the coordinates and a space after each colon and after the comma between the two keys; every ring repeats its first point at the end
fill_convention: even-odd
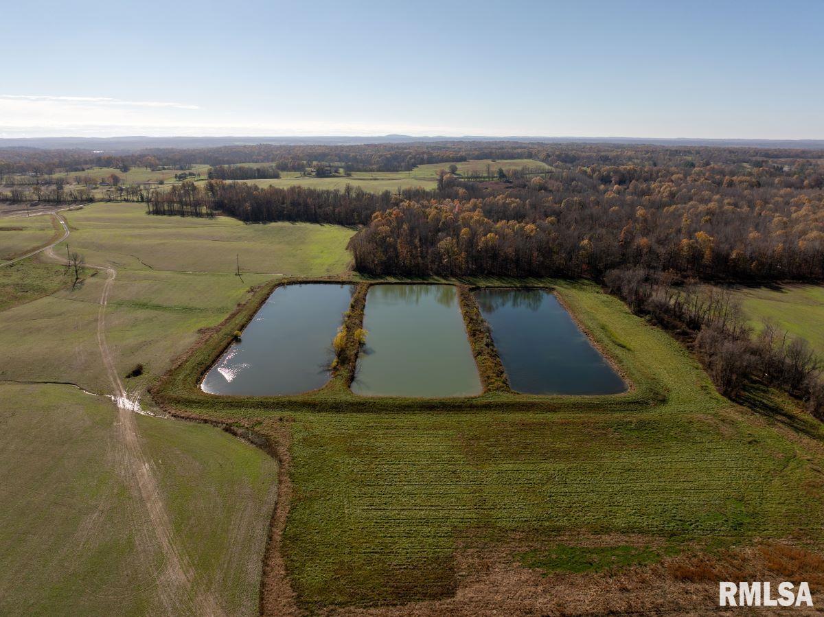
{"type": "Polygon", "coordinates": [[[9,2],[0,137],[824,138],[824,0],[9,2]]]}

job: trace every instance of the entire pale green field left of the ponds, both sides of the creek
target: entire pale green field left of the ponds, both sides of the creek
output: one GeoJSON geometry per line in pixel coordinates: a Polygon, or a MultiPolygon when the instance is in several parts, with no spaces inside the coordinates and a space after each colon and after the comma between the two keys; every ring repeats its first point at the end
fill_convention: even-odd
{"type": "MultiPolygon", "coordinates": [[[[147,386],[202,329],[217,325],[272,273],[344,271],[353,233],[172,221],[128,204],[99,203],[64,216],[70,249],[87,264],[116,269],[105,338],[115,372],[130,394],[142,395],[147,411],[157,411],[147,386]],[[248,259],[260,272],[237,277],[238,254],[241,269],[248,259]],[[143,374],[126,378],[138,363],[143,374]]],[[[64,255],[66,244],[54,253],[64,255]]],[[[84,269],[73,286],[46,255],[0,276],[0,613],[166,614],[158,591],[168,578],[164,551],[147,529],[144,497],[122,467],[118,411],[103,396],[111,385],[97,323],[107,273],[84,269]]],[[[172,612],[196,612],[187,603],[208,596],[229,615],[256,614],[276,461],[218,428],[142,415],[135,421],[174,545],[194,573],[189,595],[172,612]]]]}

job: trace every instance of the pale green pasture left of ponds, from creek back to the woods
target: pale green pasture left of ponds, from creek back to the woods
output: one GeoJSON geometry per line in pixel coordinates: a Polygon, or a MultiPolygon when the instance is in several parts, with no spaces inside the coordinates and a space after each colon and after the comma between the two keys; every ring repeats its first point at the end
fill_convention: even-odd
{"type": "MultiPolygon", "coordinates": [[[[95,204],[66,218],[70,250],[85,255],[87,264],[117,269],[107,339],[121,376],[138,363],[144,367],[143,375],[125,381],[129,390],[156,380],[200,329],[218,324],[245,301],[251,287],[276,273],[319,276],[340,273],[349,263],[345,245],[352,231],[343,227],[152,217],[125,203],[95,204]],[[236,255],[241,277],[234,274],[236,255]]],[[[63,255],[65,247],[63,242],[54,251],[63,255]]],[[[105,391],[96,340],[105,273],[87,269],[73,287],[63,270],[26,259],[4,278],[0,380],[72,381],[105,391]]]]}

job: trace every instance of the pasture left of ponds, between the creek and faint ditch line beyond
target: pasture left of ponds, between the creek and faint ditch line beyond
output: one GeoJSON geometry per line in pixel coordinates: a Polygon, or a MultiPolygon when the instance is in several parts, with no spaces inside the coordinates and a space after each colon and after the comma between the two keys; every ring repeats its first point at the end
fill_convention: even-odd
{"type": "MultiPolygon", "coordinates": [[[[138,363],[143,374],[124,381],[143,390],[177,354],[248,297],[265,277],[229,273],[119,271],[106,308],[106,337],[115,367],[125,376],[138,363]]],[[[0,312],[0,346],[6,352],[0,381],[72,381],[87,390],[110,387],[97,346],[98,301],[105,274],[76,288],[0,312]],[[25,344],[21,344],[25,341],[25,344]],[[49,349],[49,353],[44,353],[49,349]]]]}

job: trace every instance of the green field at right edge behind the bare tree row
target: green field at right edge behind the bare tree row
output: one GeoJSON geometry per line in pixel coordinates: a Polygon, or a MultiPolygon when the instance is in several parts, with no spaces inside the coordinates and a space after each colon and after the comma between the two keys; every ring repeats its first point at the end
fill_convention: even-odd
{"type": "Polygon", "coordinates": [[[824,287],[735,287],[735,293],[753,330],[760,331],[764,320],[770,320],[781,330],[805,339],[824,357],[824,287]]]}

